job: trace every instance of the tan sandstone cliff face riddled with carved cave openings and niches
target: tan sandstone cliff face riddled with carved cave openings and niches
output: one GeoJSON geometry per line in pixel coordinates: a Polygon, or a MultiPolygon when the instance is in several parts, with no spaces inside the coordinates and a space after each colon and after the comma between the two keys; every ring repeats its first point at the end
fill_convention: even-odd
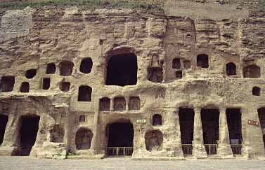
{"type": "Polygon", "coordinates": [[[264,29],[264,18],[7,10],[0,155],[264,157],[264,29]]]}

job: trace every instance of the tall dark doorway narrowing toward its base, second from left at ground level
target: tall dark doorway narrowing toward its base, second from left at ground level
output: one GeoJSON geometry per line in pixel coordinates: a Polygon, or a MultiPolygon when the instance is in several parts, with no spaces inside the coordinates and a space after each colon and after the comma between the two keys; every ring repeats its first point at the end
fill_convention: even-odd
{"type": "Polygon", "coordinates": [[[38,115],[27,115],[21,117],[20,147],[22,156],[30,155],[30,151],[37,139],[39,118],[40,117],[38,115]]]}

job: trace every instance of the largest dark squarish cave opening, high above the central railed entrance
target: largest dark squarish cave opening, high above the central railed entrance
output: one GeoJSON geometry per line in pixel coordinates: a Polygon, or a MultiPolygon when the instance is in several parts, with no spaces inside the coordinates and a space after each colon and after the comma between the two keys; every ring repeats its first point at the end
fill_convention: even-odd
{"type": "Polygon", "coordinates": [[[113,55],[108,60],[106,85],[136,85],[137,57],[133,53],[113,55]]]}

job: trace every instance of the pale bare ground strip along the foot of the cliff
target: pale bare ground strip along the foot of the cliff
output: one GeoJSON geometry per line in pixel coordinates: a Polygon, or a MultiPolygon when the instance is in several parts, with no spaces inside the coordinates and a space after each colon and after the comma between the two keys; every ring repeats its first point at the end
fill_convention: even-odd
{"type": "Polygon", "coordinates": [[[0,157],[0,170],[238,170],[264,169],[263,160],[179,160],[179,161],[134,161],[129,158],[104,160],[46,160],[32,157],[0,157]]]}

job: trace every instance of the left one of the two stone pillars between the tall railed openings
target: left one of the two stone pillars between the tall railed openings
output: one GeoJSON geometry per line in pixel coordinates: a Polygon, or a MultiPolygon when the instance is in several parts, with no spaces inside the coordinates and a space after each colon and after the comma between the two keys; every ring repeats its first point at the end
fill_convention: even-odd
{"type": "Polygon", "coordinates": [[[193,157],[205,158],[207,153],[203,144],[201,108],[194,108],[193,157]]]}

